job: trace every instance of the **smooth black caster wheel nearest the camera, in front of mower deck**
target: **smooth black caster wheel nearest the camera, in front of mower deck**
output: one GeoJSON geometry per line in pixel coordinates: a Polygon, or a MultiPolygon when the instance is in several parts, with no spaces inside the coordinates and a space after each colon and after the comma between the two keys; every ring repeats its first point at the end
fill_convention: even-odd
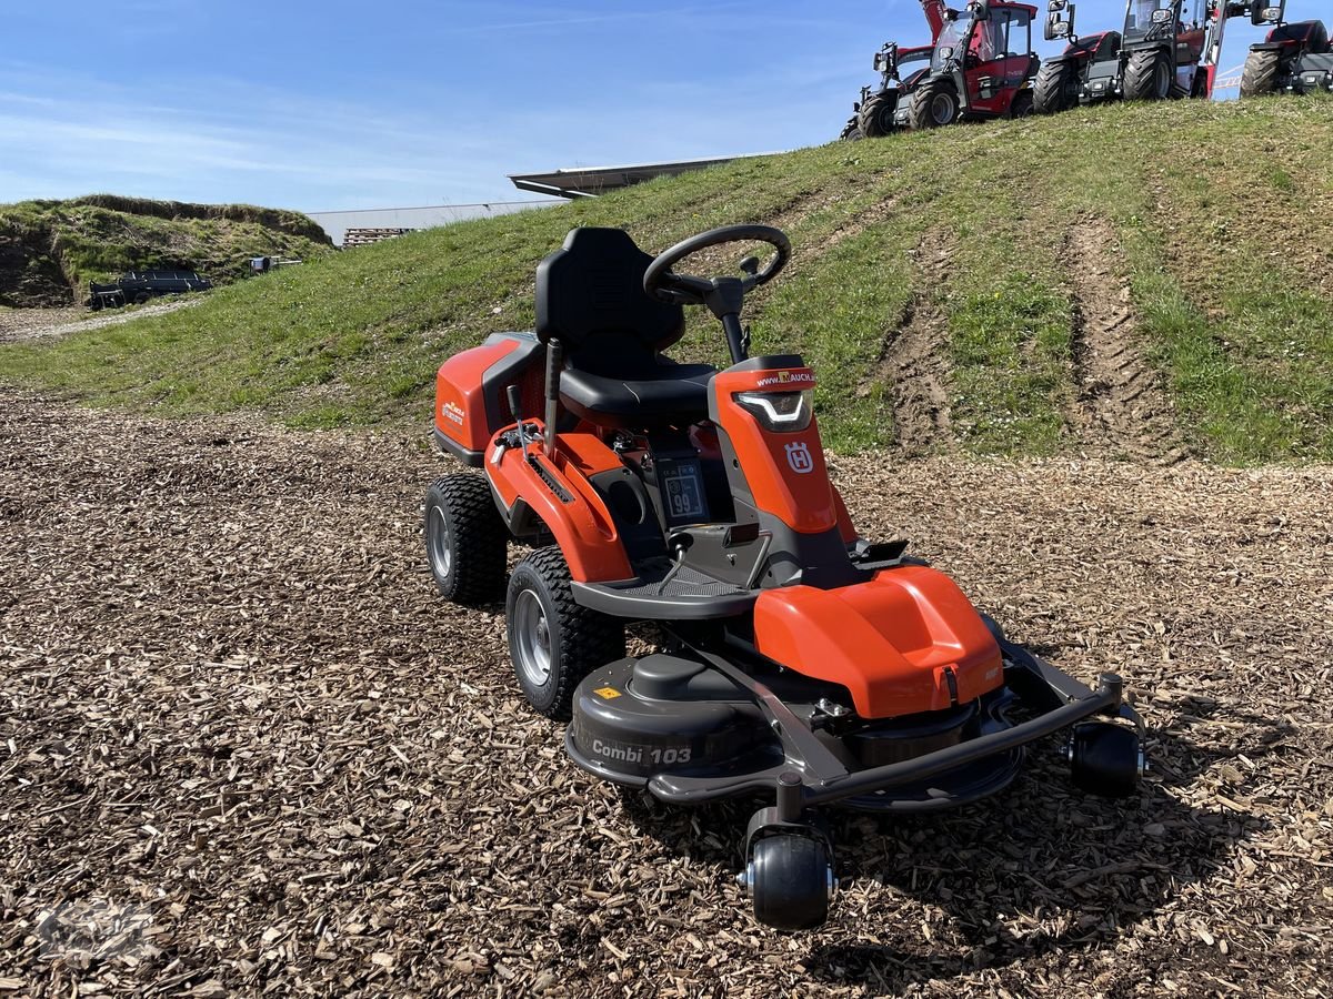
{"type": "Polygon", "coordinates": [[[812,930],[829,918],[829,856],[802,835],[764,836],[750,855],[754,919],[774,930],[812,930]]]}

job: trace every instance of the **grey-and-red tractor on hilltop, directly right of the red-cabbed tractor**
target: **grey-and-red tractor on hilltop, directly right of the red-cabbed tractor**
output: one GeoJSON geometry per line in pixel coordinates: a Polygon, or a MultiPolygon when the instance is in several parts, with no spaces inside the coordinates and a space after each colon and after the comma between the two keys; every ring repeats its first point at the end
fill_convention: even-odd
{"type": "Polygon", "coordinates": [[[1037,72],[1033,100],[1042,115],[1113,100],[1206,100],[1226,21],[1258,16],[1250,0],[1126,0],[1124,31],[1080,39],[1070,0],[1050,0],[1046,11],[1046,40],[1069,45],[1037,72]]]}

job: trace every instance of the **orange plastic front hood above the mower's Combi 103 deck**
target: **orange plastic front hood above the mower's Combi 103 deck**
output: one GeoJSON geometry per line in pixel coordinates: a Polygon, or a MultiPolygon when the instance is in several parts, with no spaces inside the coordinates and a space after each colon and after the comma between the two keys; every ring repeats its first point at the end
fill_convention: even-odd
{"type": "Polygon", "coordinates": [[[881,569],[833,590],[765,590],[754,603],[754,643],[774,662],[846,687],[862,718],[938,711],[1004,682],[981,615],[926,566],[881,569]]]}

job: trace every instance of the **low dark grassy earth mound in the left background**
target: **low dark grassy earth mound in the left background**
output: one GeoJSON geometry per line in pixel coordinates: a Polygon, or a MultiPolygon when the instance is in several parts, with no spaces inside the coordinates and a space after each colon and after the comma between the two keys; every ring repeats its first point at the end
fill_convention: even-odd
{"type": "Polygon", "coordinates": [[[319,225],[275,208],[116,194],[20,201],[0,205],[0,304],[83,301],[89,281],[136,268],[184,268],[228,282],[245,273],[248,257],[331,250],[319,225]]]}

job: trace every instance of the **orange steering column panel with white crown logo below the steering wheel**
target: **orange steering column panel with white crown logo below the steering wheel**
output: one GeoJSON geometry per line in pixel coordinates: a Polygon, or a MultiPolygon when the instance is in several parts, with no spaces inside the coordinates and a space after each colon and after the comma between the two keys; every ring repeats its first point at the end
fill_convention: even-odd
{"type": "MultiPolygon", "coordinates": [[[[841,527],[845,510],[840,515],[814,417],[797,433],[768,433],[732,398],[737,392],[813,389],[814,373],[809,368],[721,372],[713,386],[717,422],[736,450],[756,506],[801,534],[841,527]]],[[[850,522],[845,522],[849,529],[850,522]]]]}

